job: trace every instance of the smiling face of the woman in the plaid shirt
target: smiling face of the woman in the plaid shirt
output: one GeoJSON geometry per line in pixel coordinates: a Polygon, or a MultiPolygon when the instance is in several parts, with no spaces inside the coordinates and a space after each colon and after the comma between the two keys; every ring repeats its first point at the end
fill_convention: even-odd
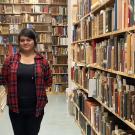
{"type": "Polygon", "coordinates": [[[19,46],[22,51],[31,52],[35,48],[34,40],[29,37],[21,36],[19,46]]]}

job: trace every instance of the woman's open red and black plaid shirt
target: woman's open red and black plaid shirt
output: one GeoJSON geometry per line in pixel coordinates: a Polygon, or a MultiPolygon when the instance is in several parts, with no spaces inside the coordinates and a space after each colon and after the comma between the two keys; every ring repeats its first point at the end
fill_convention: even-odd
{"type": "MultiPolygon", "coordinates": [[[[16,113],[19,113],[17,69],[20,58],[19,53],[6,58],[0,75],[0,85],[5,85],[8,89],[7,104],[10,110],[16,113]]],[[[48,102],[45,89],[52,84],[52,74],[47,60],[38,53],[35,56],[35,84],[37,95],[36,116],[39,116],[48,102]]]]}

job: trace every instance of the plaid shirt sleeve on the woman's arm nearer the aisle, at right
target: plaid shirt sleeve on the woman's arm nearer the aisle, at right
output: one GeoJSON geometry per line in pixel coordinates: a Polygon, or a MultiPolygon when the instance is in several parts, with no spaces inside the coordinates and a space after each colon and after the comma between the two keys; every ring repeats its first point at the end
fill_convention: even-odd
{"type": "Polygon", "coordinates": [[[44,80],[46,82],[47,87],[52,85],[52,70],[50,69],[49,63],[44,59],[44,80]]]}

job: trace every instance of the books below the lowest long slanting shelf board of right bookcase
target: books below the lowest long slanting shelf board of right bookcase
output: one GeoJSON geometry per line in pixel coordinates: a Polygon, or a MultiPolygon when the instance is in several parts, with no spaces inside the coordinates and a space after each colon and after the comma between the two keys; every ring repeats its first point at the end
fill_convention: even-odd
{"type": "Polygon", "coordinates": [[[77,104],[80,111],[78,112],[79,123],[87,134],[92,133],[92,135],[95,135],[96,133],[92,130],[93,128],[101,135],[134,134],[133,130],[128,127],[125,128],[125,125],[122,124],[121,121],[118,121],[117,118],[107,112],[95,100],[89,99],[87,95],[79,89],[74,90],[74,102],[77,104]],[[87,122],[84,117],[86,117],[89,122],[87,122]],[[86,123],[87,125],[90,123],[92,127],[91,125],[87,127],[86,123]]]}

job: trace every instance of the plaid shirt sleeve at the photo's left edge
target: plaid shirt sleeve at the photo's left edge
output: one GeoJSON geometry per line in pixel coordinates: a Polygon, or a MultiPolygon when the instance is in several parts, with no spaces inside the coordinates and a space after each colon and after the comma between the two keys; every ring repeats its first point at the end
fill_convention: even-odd
{"type": "Polygon", "coordinates": [[[9,69],[10,57],[7,57],[0,73],[0,85],[6,85],[8,82],[8,69],[9,69]]]}

